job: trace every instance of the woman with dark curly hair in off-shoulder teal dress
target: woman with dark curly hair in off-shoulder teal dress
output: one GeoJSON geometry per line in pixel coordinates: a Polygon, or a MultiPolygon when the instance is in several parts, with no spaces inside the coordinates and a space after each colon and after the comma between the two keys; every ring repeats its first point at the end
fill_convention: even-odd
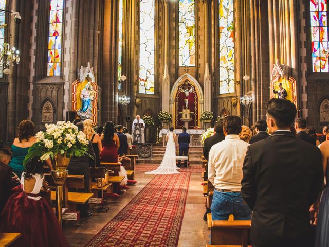
{"type": "Polygon", "coordinates": [[[24,170],[23,161],[29,148],[36,142],[34,137],[34,123],[30,120],[23,120],[20,122],[17,129],[17,137],[11,145],[12,159],[9,166],[12,171],[20,178],[24,170]]]}

